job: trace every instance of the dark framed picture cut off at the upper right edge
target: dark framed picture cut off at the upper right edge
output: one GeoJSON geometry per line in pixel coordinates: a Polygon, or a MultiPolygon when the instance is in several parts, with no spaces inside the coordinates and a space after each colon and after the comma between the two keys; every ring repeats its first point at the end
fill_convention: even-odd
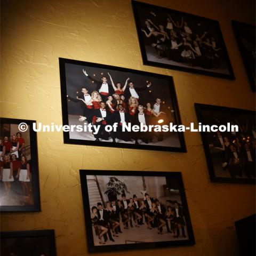
{"type": "Polygon", "coordinates": [[[256,27],[239,21],[232,21],[232,26],[236,36],[239,51],[242,55],[246,73],[251,84],[252,90],[255,91],[255,29],[256,27]]]}

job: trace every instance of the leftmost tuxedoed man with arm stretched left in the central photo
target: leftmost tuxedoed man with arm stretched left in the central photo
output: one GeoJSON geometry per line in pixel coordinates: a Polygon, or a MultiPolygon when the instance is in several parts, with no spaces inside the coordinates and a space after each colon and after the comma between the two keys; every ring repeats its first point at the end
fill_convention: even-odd
{"type": "MultiPolygon", "coordinates": [[[[81,88],[81,93],[79,93],[78,97],[80,99],[84,99],[85,102],[89,102],[91,100],[91,95],[88,93],[88,90],[85,87],[81,88]]],[[[80,107],[82,109],[82,115],[83,117],[86,117],[86,120],[88,123],[92,122],[92,112],[93,112],[93,105],[92,103],[89,103],[89,105],[86,105],[83,101],[78,100],[77,98],[72,98],[69,95],[67,95],[67,99],[69,101],[80,103],[80,107]]],[[[82,116],[80,116],[82,117],[82,116]]]]}

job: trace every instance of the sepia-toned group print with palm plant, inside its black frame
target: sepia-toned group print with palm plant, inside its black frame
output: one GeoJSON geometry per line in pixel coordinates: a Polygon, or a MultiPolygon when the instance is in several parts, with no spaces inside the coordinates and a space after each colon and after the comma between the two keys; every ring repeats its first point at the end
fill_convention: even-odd
{"type": "Polygon", "coordinates": [[[188,240],[177,179],[87,175],[94,246],[188,240]]]}

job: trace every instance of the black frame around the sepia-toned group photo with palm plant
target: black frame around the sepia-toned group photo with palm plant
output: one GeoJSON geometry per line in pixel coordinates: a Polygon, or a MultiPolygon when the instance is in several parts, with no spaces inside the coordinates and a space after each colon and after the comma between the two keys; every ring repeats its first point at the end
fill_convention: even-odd
{"type": "MultiPolygon", "coordinates": [[[[109,251],[133,250],[133,249],[155,249],[155,248],[160,248],[160,247],[183,246],[183,245],[193,245],[193,244],[195,244],[195,238],[194,238],[193,228],[192,228],[191,220],[190,220],[190,216],[189,216],[188,204],[187,204],[186,195],[185,195],[185,189],[184,189],[184,186],[183,186],[182,175],[181,175],[180,172],[79,170],[79,173],[80,173],[80,180],[81,180],[81,190],[82,190],[83,206],[84,206],[84,218],[85,218],[87,247],[88,247],[88,251],[89,252],[109,252],[109,251]],[[91,209],[90,209],[91,205],[90,205],[90,198],[89,198],[89,193],[90,192],[88,190],[89,186],[87,186],[87,180],[86,180],[87,176],[88,176],[89,179],[90,179],[90,176],[94,177],[94,180],[97,183],[97,187],[98,188],[101,186],[100,185],[100,183],[101,183],[100,179],[102,177],[106,177],[107,176],[108,178],[109,177],[119,178],[119,176],[121,176],[121,177],[124,177],[123,179],[126,180],[125,181],[126,184],[127,184],[127,182],[132,182],[132,183],[130,183],[130,185],[132,186],[132,189],[137,188],[136,187],[136,182],[134,182],[134,178],[138,178],[139,179],[139,178],[143,177],[142,178],[142,179],[144,179],[143,182],[147,183],[147,180],[149,178],[155,178],[156,179],[156,178],[163,178],[163,177],[165,177],[165,179],[168,179],[168,181],[165,180],[166,184],[167,183],[169,184],[169,182],[173,182],[175,185],[172,185],[172,186],[176,186],[178,188],[178,190],[179,190],[179,197],[180,197],[180,199],[178,199],[178,201],[180,200],[181,205],[182,205],[181,207],[182,207],[183,212],[184,212],[184,218],[185,218],[185,222],[186,222],[186,235],[187,235],[187,238],[183,238],[183,239],[180,239],[180,240],[177,240],[177,241],[175,241],[175,238],[173,238],[172,241],[168,240],[168,239],[170,239],[170,238],[168,238],[167,241],[162,241],[162,242],[159,242],[159,241],[158,242],[145,242],[145,241],[143,242],[143,238],[146,239],[143,236],[143,237],[141,237],[142,241],[138,242],[138,241],[133,241],[135,239],[135,237],[132,236],[133,239],[131,241],[129,239],[126,240],[127,237],[125,237],[124,238],[125,239],[125,243],[122,243],[122,244],[116,244],[115,245],[115,242],[110,242],[109,241],[109,243],[107,245],[95,245],[94,244],[95,241],[94,241],[94,238],[93,238],[93,234],[94,234],[93,232],[94,231],[93,231],[93,226],[92,226],[92,221],[91,221],[91,209]],[[129,242],[131,242],[133,244],[129,244],[129,242]]],[[[119,179],[121,179],[121,178],[119,178],[119,179]]],[[[168,185],[168,186],[170,188],[170,185],[168,185]]],[[[127,185],[127,189],[131,189],[131,187],[129,187],[129,185],[127,185]]],[[[166,190],[168,189],[167,185],[166,185],[166,187],[164,187],[164,189],[166,189],[166,190]]],[[[101,190],[99,190],[99,191],[101,191],[101,190]]],[[[147,193],[150,194],[150,191],[147,190],[147,193]]],[[[166,192],[166,193],[168,193],[168,192],[166,192]]],[[[103,194],[103,192],[102,192],[102,194],[103,194]]],[[[126,192],[126,194],[127,194],[127,192],[126,192]]],[[[130,191],[130,194],[132,195],[133,192],[130,191]]],[[[119,195],[119,197],[121,197],[121,194],[119,195]]],[[[129,197],[127,197],[127,198],[129,198],[129,197]]],[[[158,198],[160,198],[160,197],[158,197],[158,198]]],[[[94,198],[92,200],[95,201],[94,198]]],[[[139,196],[138,196],[138,200],[139,200],[139,196]]],[[[159,202],[160,201],[161,201],[161,199],[159,199],[159,202]]],[[[170,204],[174,204],[174,202],[178,202],[178,201],[170,200],[169,202],[170,202],[170,204]]],[[[161,203],[162,203],[162,201],[161,201],[161,203]]],[[[104,205],[104,203],[103,203],[103,205],[104,205]]],[[[180,203],[179,203],[179,205],[180,205],[180,203]]],[[[120,222],[121,222],[121,219],[120,219],[120,222]]],[[[121,226],[121,229],[123,230],[123,234],[119,234],[119,237],[125,236],[124,232],[125,232],[125,230],[128,230],[128,229],[123,229],[123,226],[122,225],[120,225],[120,226],[121,226]]],[[[156,228],[153,228],[153,230],[148,230],[146,228],[146,223],[143,226],[144,226],[144,228],[146,230],[146,234],[148,232],[152,231],[152,234],[155,233],[154,235],[156,235],[156,238],[158,238],[157,237],[158,234],[157,234],[156,228]]],[[[134,227],[133,227],[133,229],[134,229],[134,227]]],[[[134,231],[137,231],[137,230],[138,229],[135,228],[134,231]]],[[[138,230],[138,232],[140,232],[140,230],[138,230]]],[[[172,234],[169,234],[169,233],[166,233],[164,235],[169,235],[169,237],[172,237],[172,234]]],[[[153,239],[153,238],[151,238],[151,239],[153,239]]],[[[155,239],[153,241],[157,241],[157,239],[155,239]]]]}

